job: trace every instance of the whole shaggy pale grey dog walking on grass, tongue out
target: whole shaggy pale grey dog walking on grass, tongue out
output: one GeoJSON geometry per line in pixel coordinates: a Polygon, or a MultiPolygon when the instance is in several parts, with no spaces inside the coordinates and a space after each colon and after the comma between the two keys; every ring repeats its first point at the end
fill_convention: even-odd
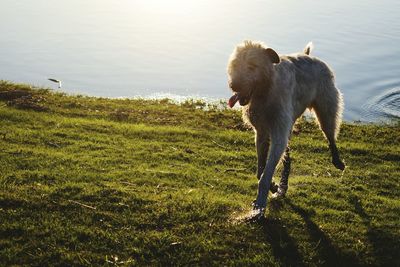
{"type": "Polygon", "coordinates": [[[258,193],[254,213],[263,215],[268,190],[284,195],[288,188],[290,156],[288,142],[292,127],[306,108],[314,110],[329,141],[333,165],[344,170],[336,147],[343,111],[343,98],[334,74],[326,63],[310,56],[312,44],[302,53],[278,55],[263,43],[245,41],[238,45],[228,63],[229,87],[243,106],[243,119],[255,131],[258,193]],[[286,150],[286,153],[285,153],[286,150]],[[283,157],[279,186],[271,185],[275,168],[283,157]]]}

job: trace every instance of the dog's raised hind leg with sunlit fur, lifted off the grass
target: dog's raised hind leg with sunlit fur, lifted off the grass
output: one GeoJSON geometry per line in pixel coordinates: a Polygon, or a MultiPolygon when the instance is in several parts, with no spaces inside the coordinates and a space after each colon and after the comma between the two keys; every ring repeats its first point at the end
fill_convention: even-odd
{"type": "Polygon", "coordinates": [[[336,147],[336,136],[341,123],[343,100],[336,87],[332,86],[327,89],[329,90],[325,91],[326,95],[324,97],[315,100],[313,109],[317,115],[321,130],[328,139],[333,165],[340,170],[344,170],[346,166],[340,159],[339,151],[336,147]]]}

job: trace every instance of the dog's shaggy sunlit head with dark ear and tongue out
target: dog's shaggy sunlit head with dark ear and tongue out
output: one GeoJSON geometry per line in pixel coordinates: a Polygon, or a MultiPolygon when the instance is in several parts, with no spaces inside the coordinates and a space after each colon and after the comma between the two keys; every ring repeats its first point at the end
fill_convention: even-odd
{"type": "Polygon", "coordinates": [[[273,64],[279,62],[278,54],[262,43],[244,41],[236,46],[228,62],[228,83],[233,92],[229,107],[237,101],[245,106],[255,90],[266,90],[273,75],[273,64]]]}

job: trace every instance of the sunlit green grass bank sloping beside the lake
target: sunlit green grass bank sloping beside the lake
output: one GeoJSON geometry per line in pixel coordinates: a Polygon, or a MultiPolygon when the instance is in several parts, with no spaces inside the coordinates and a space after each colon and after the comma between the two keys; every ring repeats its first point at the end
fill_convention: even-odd
{"type": "Polygon", "coordinates": [[[254,224],[238,111],[2,81],[0,125],[1,265],[400,265],[398,123],[345,123],[340,172],[302,120],[287,197],[254,224]]]}

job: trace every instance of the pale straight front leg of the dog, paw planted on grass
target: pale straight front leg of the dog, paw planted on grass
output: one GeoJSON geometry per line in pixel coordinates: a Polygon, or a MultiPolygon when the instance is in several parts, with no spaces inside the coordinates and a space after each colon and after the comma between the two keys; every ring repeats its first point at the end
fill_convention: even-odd
{"type": "Polygon", "coordinates": [[[258,181],[258,193],[254,204],[254,209],[263,212],[267,206],[268,190],[271,186],[272,176],[274,175],[276,165],[286,149],[288,144],[288,136],[271,136],[271,149],[268,155],[267,165],[258,181]]]}

